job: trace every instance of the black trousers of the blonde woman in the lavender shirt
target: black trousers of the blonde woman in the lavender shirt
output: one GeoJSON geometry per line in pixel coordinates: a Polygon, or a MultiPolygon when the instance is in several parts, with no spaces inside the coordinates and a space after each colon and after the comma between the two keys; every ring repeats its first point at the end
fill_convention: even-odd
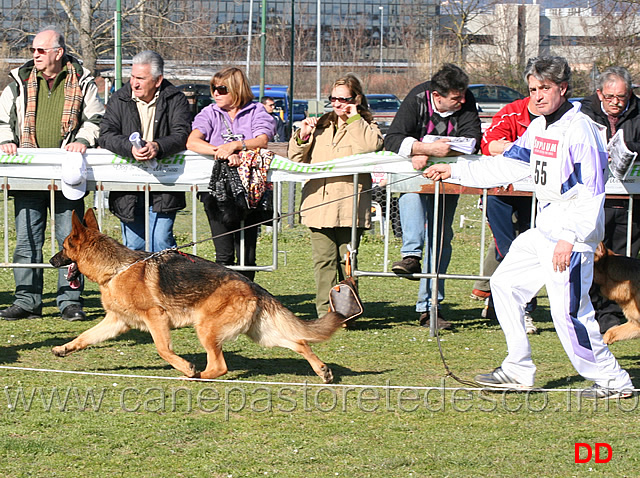
{"type": "MultiPolygon", "coordinates": [[[[240,264],[240,232],[230,232],[240,229],[241,223],[223,223],[220,221],[220,212],[209,201],[203,200],[204,211],[209,219],[209,227],[213,236],[213,244],[216,248],[216,263],[225,266],[240,264]],[[228,234],[226,234],[228,233],[228,234]]],[[[258,243],[258,227],[263,214],[260,211],[250,212],[244,220],[244,265],[256,265],[256,246],[258,243]],[[248,227],[253,226],[253,227],[248,227]]],[[[255,271],[238,271],[247,279],[253,280],[255,271]]]]}

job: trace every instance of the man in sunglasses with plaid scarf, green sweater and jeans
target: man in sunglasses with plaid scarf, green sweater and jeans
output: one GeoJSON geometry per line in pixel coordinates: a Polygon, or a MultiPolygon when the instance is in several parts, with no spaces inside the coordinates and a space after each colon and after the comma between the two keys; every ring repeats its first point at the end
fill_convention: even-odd
{"type": "MultiPolygon", "coordinates": [[[[64,36],[55,27],[38,33],[31,46],[33,58],[11,71],[11,83],[0,97],[0,151],[16,154],[18,148],[62,148],[82,153],[96,143],[104,107],[91,72],[66,52],[64,36]]],[[[65,153],[61,154],[64,160],[65,153]]],[[[16,248],[13,261],[42,262],[47,210],[47,191],[12,191],[16,248]]],[[[82,191],[80,191],[82,194],[82,191]]],[[[56,239],[60,247],[71,232],[71,213],[84,214],[84,198],[55,193],[56,239]]],[[[13,269],[16,292],[13,305],[0,311],[4,320],[34,319],[42,313],[43,270],[13,269]]],[[[56,305],[65,320],[86,318],[82,310],[83,284],[72,289],[58,274],[56,305]]]]}

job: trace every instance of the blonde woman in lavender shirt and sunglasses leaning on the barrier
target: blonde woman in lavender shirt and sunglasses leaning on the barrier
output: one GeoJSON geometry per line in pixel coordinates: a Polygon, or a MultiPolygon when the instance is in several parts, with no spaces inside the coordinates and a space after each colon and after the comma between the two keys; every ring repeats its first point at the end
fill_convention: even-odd
{"type": "MultiPolygon", "coordinates": [[[[217,162],[226,162],[225,165],[217,163],[214,170],[228,171],[225,168],[241,164],[241,151],[265,148],[276,132],[276,123],[261,103],[252,103],[253,94],[242,70],[226,68],[219,71],[211,78],[210,85],[215,102],[193,120],[187,148],[212,155],[217,162]]],[[[261,219],[261,212],[247,212],[234,206],[232,201],[219,202],[216,197],[213,193],[200,195],[214,236],[216,262],[237,265],[240,263],[240,232],[225,233],[239,229],[242,220],[245,226],[256,224],[261,219]]],[[[255,266],[258,227],[245,229],[244,240],[244,265],[255,266]]],[[[255,277],[255,271],[241,272],[251,280],[255,277]]]]}

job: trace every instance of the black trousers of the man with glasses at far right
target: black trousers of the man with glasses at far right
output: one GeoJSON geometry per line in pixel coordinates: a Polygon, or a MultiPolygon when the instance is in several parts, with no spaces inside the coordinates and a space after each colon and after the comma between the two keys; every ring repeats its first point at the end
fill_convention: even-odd
{"type": "MultiPolygon", "coordinates": [[[[627,221],[628,201],[624,199],[607,199],[604,204],[605,232],[604,244],[616,254],[627,253],[627,221]]],[[[631,257],[638,257],[640,252],[640,200],[633,201],[633,217],[631,230],[631,257]]],[[[596,311],[596,320],[600,332],[605,333],[611,327],[620,325],[624,314],[620,306],[600,295],[600,288],[592,285],[589,291],[591,303],[596,311]]]]}

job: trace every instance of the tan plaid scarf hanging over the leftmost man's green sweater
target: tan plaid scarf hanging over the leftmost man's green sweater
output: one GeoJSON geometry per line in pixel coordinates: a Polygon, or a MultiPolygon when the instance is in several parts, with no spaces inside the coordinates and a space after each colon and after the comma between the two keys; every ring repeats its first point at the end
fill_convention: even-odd
{"type": "MultiPolygon", "coordinates": [[[[20,137],[21,148],[37,148],[36,143],[36,106],[38,104],[38,71],[34,67],[27,79],[27,106],[20,137]]],[[[60,135],[65,138],[78,126],[82,109],[82,89],[78,82],[76,69],[67,61],[67,78],[64,83],[64,106],[60,120],[60,135]]]]}

